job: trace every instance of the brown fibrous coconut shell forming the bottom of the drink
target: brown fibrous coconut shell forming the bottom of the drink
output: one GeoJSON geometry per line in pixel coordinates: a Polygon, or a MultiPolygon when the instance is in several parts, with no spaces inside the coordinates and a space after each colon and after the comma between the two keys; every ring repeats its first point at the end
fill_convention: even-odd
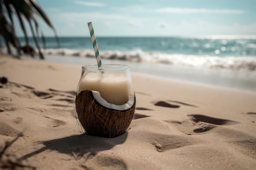
{"type": "Polygon", "coordinates": [[[84,130],[89,135],[116,137],[122,135],[132,121],[134,104],[127,110],[115,110],[102,106],[94,99],[92,91],[81,91],[76,96],[76,113],[84,130]]]}

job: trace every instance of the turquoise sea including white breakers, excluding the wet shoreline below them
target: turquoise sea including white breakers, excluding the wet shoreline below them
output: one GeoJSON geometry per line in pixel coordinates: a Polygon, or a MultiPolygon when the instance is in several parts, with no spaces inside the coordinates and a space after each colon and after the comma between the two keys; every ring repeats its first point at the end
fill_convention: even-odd
{"type": "MultiPolygon", "coordinates": [[[[89,37],[60,37],[59,49],[55,38],[45,40],[45,54],[95,56],[89,37]]],[[[99,37],[97,43],[102,59],[256,71],[256,36],[99,37]]]]}

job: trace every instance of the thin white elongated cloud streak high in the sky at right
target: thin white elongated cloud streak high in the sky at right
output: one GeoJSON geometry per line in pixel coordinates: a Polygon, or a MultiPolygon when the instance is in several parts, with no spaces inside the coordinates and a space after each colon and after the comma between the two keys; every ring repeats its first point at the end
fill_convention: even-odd
{"type": "Polygon", "coordinates": [[[234,13],[241,14],[244,13],[243,10],[234,10],[234,9],[194,9],[194,8],[159,8],[152,10],[155,13],[234,13]]]}

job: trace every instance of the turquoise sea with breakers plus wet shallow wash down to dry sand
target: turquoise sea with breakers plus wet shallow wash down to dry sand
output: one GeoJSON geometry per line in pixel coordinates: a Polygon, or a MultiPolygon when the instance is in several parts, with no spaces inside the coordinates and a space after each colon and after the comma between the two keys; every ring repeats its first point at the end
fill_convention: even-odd
{"type": "MultiPolygon", "coordinates": [[[[96,64],[90,37],[59,37],[60,48],[54,37],[45,41],[46,60],[96,64]]],[[[256,92],[256,35],[97,37],[97,44],[103,64],[127,63],[138,73],[256,92]]]]}

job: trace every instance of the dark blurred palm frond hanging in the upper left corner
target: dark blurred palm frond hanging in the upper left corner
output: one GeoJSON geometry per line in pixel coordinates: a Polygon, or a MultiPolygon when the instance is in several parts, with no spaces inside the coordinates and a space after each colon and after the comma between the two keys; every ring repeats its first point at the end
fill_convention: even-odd
{"type": "Polygon", "coordinates": [[[40,59],[44,58],[43,53],[40,50],[40,44],[38,40],[41,40],[41,42],[43,43],[43,48],[45,48],[45,37],[43,35],[43,31],[38,24],[36,16],[42,18],[45,23],[53,30],[56,42],[58,46],[60,46],[58,35],[56,33],[56,30],[54,29],[52,22],[49,20],[49,18],[40,7],[38,2],[36,2],[36,0],[0,0],[0,35],[2,35],[5,39],[8,51],[9,43],[11,43],[14,47],[16,47],[16,49],[18,49],[18,54],[19,50],[21,49],[24,53],[34,57],[34,49],[33,47],[29,46],[29,38],[27,35],[27,30],[25,28],[25,21],[27,21],[33,36],[33,40],[36,44],[36,48],[38,49],[39,57],[40,59]],[[5,12],[7,13],[6,15],[4,15],[3,7],[5,7],[5,11],[7,11],[5,12]],[[20,46],[18,38],[15,35],[13,15],[17,15],[20,27],[22,29],[22,32],[24,33],[26,45],[23,47],[20,46]],[[6,18],[9,18],[11,23],[9,23],[6,18]]]}

